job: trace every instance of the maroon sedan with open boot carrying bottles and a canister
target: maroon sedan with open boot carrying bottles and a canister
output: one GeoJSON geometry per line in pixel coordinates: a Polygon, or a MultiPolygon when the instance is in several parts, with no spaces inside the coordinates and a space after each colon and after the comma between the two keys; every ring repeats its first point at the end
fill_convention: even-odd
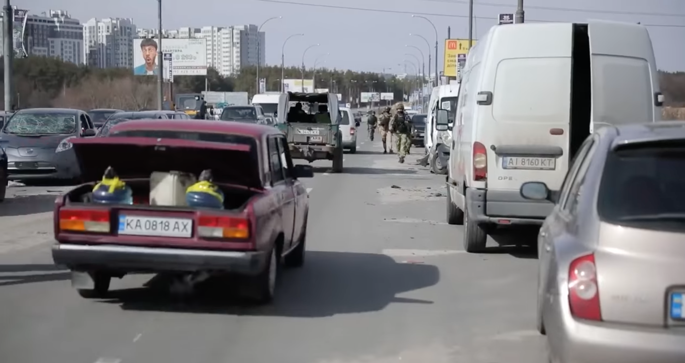
{"type": "Polygon", "coordinates": [[[247,297],[266,302],[279,263],[303,264],[309,203],[299,178],[312,177],[312,166],[292,164],[286,136],[275,127],[134,120],[115,125],[110,136],[75,143],[87,183],[55,205],[53,259],[73,271],[85,297],[103,297],[112,277],[138,271],[232,273],[244,277],[247,297]],[[132,188],[136,204],[89,202],[108,166],[132,188]],[[207,169],[225,196],[223,210],[146,200],[151,173],[207,169]],[[178,229],[156,227],[164,225],[178,229]]]}

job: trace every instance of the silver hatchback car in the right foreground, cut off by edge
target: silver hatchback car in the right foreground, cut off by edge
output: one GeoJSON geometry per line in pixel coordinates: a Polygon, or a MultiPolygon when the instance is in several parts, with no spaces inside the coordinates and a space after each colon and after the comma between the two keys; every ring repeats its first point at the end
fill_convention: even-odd
{"type": "Polygon", "coordinates": [[[553,363],[685,362],[685,123],[604,127],[538,236],[538,330],[553,363]]]}

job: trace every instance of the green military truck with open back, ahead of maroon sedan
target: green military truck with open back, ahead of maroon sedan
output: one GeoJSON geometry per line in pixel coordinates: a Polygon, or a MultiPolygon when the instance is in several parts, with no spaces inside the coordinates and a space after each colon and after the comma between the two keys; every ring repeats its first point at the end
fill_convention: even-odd
{"type": "Polygon", "coordinates": [[[288,92],[278,100],[278,127],[288,137],[293,159],[332,160],[333,172],[343,172],[343,134],[334,93],[288,92]],[[297,104],[301,104],[298,109],[297,104]]]}

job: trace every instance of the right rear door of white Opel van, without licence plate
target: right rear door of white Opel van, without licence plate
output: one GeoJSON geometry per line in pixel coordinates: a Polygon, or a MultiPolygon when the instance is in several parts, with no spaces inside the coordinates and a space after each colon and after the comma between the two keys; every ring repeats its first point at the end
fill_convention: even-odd
{"type": "Polygon", "coordinates": [[[659,75],[647,28],[588,22],[592,64],[590,132],[602,125],[661,120],[659,75]]]}

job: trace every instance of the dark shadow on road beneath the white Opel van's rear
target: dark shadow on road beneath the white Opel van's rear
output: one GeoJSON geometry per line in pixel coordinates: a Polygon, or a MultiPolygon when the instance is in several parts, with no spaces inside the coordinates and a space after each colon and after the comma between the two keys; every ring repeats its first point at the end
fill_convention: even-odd
{"type": "Polygon", "coordinates": [[[515,258],[537,259],[538,229],[502,228],[493,231],[490,237],[497,242],[496,247],[488,247],[485,253],[508,253],[515,258]]]}

